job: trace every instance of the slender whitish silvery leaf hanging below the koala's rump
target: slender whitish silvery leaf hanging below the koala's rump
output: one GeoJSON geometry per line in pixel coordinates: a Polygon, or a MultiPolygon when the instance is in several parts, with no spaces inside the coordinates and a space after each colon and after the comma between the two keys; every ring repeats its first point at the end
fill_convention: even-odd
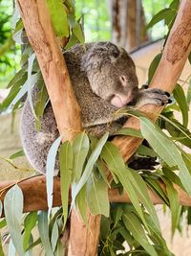
{"type": "Polygon", "coordinates": [[[49,208],[49,215],[53,207],[53,173],[55,167],[55,160],[58,148],[61,143],[61,137],[59,136],[52,144],[51,149],[47,155],[46,165],[46,184],[47,184],[47,202],[49,208]]]}

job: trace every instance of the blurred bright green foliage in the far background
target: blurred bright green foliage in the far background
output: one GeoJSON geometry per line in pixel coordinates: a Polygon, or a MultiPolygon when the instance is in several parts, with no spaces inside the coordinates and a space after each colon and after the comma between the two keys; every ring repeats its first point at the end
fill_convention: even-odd
{"type": "MultiPolygon", "coordinates": [[[[167,7],[171,0],[142,0],[146,22],[159,10],[167,7]]],[[[82,18],[86,42],[110,40],[111,22],[108,13],[107,0],[77,0],[75,3],[76,17],[82,18]]],[[[11,81],[19,69],[20,48],[11,39],[11,16],[13,1],[0,0],[0,88],[11,81]]],[[[163,21],[149,31],[153,40],[166,34],[167,28],[163,21]]]]}

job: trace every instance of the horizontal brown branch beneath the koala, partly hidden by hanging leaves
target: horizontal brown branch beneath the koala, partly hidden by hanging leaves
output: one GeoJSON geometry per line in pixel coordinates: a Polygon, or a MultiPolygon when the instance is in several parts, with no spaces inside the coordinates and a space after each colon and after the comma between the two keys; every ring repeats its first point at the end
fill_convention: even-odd
{"type": "MultiPolygon", "coordinates": [[[[4,199],[10,187],[16,183],[17,183],[16,180],[4,181],[0,183],[1,200],[4,199]]],[[[21,188],[24,195],[24,213],[48,209],[47,194],[46,194],[46,178],[44,175],[34,176],[24,181],[20,181],[17,184],[21,188]]],[[[159,181],[159,185],[162,188],[162,190],[166,192],[164,183],[159,181]]],[[[174,187],[178,192],[180,204],[185,206],[191,206],[191,197],[188,196],[178,185],[174,185],[174,187]]],[[[163,203],[161,198],[159,198],[156,194],[154,194],[153,191],[148,189],[148,192],[154,204],[163,203]]],[[[109,189],[108,195],[109,195],[109,200],[111,202],[130,202],[131,201],[125,192],[123,192],[122,195],[119,195],[117,189],[109,189]]],[[[69,201],[70,200],[71,200],[71,195],[69,196],[69,201]]],[[[57,176],[53,178],[53,207],[56,207],[56,206],[61,206],[60,178],[57,176]]],[[[76,232],[76,229],[75,229],[75,232],[76,232]]]]}

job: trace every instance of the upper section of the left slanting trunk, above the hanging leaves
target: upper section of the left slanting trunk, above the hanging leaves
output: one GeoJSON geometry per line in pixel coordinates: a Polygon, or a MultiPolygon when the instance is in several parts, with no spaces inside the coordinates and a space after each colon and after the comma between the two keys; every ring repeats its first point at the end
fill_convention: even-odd
{"type": "Polygon", "coordinates": [[[80,108],[74,97],[59,42],[53,32],[46,1],[17,0],[17,3],[46,83],[59,133],[63,141],[72,140],[81,129],[80,108]]]}

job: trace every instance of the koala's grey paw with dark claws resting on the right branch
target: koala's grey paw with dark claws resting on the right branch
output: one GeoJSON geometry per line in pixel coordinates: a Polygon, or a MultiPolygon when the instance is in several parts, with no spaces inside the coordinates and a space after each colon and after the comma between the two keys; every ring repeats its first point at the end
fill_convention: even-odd
{"type": "Polygon", "coordinates": [[[138,107],[142,105],[166,105],[172,103],[170,94],[160,89],[140,89],[138,92],[138,107]]]}

